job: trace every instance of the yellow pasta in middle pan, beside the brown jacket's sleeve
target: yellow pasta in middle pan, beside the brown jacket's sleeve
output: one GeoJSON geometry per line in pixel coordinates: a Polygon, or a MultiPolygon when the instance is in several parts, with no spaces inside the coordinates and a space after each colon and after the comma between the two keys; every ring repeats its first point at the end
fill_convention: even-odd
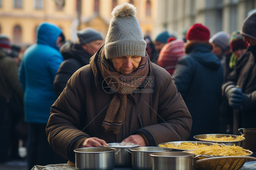
{"type": "Polygon", "coordinates": [[[191,142],[182,142],[178,146],[175,146],[174,144],[166,143],[166,144],[160,144],[160,147],[168,147],[168,148],[174,148],[174,149],[183,149],[183,150],[190,150],[190,149],[198,149],[205,147],[207,145],[205,144],[197,144],[197,143],[191,143],[191,142]]]}

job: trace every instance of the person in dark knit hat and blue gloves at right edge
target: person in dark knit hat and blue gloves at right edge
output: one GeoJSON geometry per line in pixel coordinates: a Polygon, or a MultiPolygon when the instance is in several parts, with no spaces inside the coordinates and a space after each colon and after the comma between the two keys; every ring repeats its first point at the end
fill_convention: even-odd
{"type": "Polygon", "coordinates": [[[244,42],[249,44],[247,51],[240,57],[222,92],[227,97],[233,111],[233,134],[239,134],[238,128],[255,127],[256,109],[256,12],[248,16],[240,31],[244,42]]]}

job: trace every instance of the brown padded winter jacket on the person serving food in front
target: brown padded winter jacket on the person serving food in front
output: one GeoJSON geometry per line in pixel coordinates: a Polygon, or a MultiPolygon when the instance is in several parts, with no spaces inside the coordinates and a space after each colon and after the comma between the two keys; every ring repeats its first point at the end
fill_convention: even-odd
{"type": "Polygon", "coordinates": [[[192,118],[185,102],[165,69],[153,63],[149,68],[149,79],[146,79],[149,84],[138,90],[150,93],[127,95],[125,120],[118,134],[106,133],[102,128],[114,94],[104,91],[103,78],[96,68],[93,68],[96,76],[90,65],[77,70],[51,107],[46,133],[53,150],[74,162],[74,144],[81,138],[98,137],[113,143],[133,134],[143,134],[151,146],[186,140],[192,118]]]}

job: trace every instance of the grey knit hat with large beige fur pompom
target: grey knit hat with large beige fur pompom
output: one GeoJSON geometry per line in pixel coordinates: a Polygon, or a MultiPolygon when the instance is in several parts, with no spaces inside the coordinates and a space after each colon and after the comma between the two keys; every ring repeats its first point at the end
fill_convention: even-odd
{"type": "Polygon", "coordinates": [[[104,46],[106,58],[123,55],[144,57],[146,42],[135,17],[136,8],[132,4],[123,3],[116,6],[111,14],[113,18],[110,21],[104,46]]]}

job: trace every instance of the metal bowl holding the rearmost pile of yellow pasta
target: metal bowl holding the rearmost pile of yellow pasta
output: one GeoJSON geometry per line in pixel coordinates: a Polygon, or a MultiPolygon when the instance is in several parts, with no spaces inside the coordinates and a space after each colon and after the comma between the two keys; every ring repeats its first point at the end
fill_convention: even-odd
{"type": "Polygon", "coordinates": [[[245,139],[245,138],[243,138],[243,140],[232,141],[232,142],[202,140],[202,139],[205,139],[207,137],[210,137],[211,135],[213,135],[215,138],[220,138],[220,137],[223,137],[223,136],[226,136],[226,137],[232,136],[233,138],[236,138],[236,136],[238,136],[238,135],[229,135],[229,134],[203,134],[203,135],[196,135],[196,136],[194,136],[194,138],[196,140],[202,141],[202,142],[212,142],[212,143],[217,143],[218,142],[218,143],[222,143],[222,144],[229,145],[229,146],[233,146],[233,144],[235,144],[236,146],[240,146],[240,147],[242,147],[243,140],[245,139]]]}

